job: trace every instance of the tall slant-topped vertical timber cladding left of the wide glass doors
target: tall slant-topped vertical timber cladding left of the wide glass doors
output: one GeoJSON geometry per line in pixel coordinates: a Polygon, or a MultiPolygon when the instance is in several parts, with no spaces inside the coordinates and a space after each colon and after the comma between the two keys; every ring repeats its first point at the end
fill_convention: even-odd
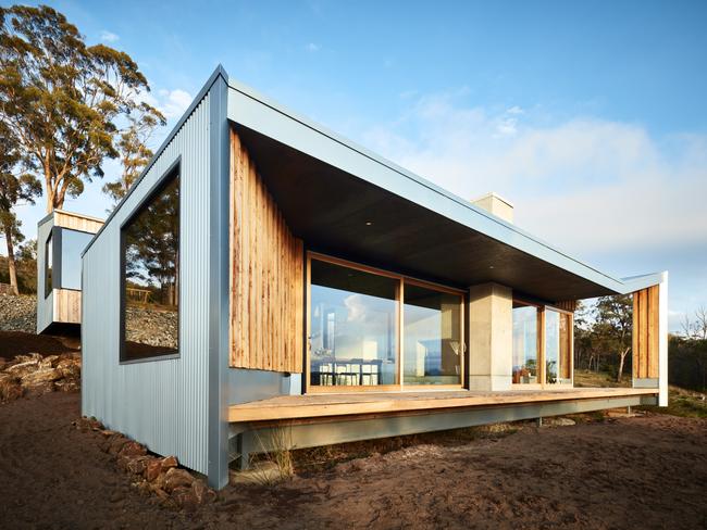
{"type": "Polygon", "coordinates": [[[303,252],[231,131],[231,353],[234,368],[302,371],[303,252]]]}

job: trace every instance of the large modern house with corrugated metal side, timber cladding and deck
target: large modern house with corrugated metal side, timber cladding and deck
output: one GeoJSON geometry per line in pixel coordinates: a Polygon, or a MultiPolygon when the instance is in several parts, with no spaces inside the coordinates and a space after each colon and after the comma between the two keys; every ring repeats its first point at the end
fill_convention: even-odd
{"type": "Polygon", "coordinates": [[[83,257],[83,413],[228,480],[315,446],[667,404],[667,273],[615,278],[209,78],[83,257]],[[578,300],[633,293],[633,388],[573,388],[578,300]],[[284,441],[283,441],[284,440],[284,441]]]}

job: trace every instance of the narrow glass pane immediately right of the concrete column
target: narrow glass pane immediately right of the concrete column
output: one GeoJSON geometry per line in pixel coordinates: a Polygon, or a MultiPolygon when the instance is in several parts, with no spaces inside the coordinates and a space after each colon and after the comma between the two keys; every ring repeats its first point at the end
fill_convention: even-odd
{"type": "Polygon", "coordinates": [[[537,352],[537,307],[513,302],[513,374],[516,384],[538,383],[537,352]]]}

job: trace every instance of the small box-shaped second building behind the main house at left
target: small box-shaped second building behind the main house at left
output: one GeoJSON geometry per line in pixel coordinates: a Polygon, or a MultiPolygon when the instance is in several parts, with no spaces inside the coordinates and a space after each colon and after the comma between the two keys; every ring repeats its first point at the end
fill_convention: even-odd
{"type": "Polygon", "coordinates": [[[103,220],[54,210],[37,224],[37,333],[80,326],[82,253],[103,220]]]}

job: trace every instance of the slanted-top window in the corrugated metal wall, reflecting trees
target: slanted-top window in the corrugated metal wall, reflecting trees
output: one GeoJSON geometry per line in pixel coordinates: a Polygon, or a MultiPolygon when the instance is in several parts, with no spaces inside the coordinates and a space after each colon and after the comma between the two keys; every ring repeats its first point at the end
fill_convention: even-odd
{"type": "Polygon", "coordinates": [[[179,177],[123,229],[124,361],[178,349],[179,177]]]}

